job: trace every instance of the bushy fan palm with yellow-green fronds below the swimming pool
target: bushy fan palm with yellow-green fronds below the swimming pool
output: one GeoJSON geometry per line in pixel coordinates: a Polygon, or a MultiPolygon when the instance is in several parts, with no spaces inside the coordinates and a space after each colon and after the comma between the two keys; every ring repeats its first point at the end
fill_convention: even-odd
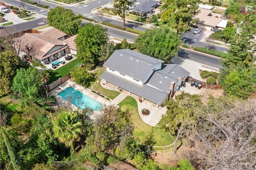
{"type": "Polygon", "coordinates": [[[57,115],[53,121],[54,136],[66,146],[73,146],[74,141],[79,141],[79,134],[82,132],[82,123],[78,121],[77,114],[64,111],[57,115]]]}

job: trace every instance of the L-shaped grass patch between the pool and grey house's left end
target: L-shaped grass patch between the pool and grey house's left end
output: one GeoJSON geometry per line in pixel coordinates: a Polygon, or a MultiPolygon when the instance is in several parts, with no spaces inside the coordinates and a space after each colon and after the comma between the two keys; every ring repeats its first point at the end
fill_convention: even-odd
{"type": "Polygon", "coordinates": [[[108,90],[108,89],[105,89],[101,86],[100,84],[100,76],[102,75],[102,73],[104,72],[105,68],[100,68],[100,69],[97,69],[93,74],[93,79],[90,80],[89,82],[89,88],[93,85],[93,90],[101,93],[102,95],[110,98],[110,99],[114,99],[116,98],[116,96],[118,96],[120,94],[120,92],[118,91],[113,91],[113,90],[108,90]],[[97,79],[99,79],[99,82],[97,83],[97,79]],[[95,85],[94,85],[95,83],[95,85]]]}

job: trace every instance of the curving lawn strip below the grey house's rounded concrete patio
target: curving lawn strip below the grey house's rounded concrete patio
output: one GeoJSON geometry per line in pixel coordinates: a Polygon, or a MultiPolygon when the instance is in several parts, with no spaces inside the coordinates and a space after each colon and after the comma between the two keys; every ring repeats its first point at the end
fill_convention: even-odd
{"type": "Polygon", "coordinates": [[[138,105],[134,98],[128,96],[120,104],[122,110],[128,109],[134,124],[134,135],[140,139],[140,143],[151,144],[154,146],[167,146],[174,140],[167,132],[159,127],[152,127],[140,118],[138,105]]]}

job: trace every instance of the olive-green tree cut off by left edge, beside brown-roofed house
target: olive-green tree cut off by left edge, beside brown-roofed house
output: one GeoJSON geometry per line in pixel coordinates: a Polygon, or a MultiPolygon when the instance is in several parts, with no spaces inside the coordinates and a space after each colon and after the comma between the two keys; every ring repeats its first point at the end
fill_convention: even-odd
{"type": "Polygon", "coordinates": [[[10,93],[16,69],[20,66],[20,57],[12,51],[0,53],[0,97],[10,93]]]}

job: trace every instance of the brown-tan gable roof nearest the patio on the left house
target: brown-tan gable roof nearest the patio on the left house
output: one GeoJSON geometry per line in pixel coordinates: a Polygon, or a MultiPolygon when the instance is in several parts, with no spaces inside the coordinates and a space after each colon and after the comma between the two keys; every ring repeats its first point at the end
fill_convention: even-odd
{"type": "Polygon", "coordinates": [[[39,60],[43,60],[49,57],[53,52],[66,48],[66,45],[63,45],[61,40],[40,37],[38,35],[38,33],[25,33],[23,36],[21,36],[21,51],[25,52],[26,48],[28,47],[30,50],[29,54],[31,56],[39,60]]]}

